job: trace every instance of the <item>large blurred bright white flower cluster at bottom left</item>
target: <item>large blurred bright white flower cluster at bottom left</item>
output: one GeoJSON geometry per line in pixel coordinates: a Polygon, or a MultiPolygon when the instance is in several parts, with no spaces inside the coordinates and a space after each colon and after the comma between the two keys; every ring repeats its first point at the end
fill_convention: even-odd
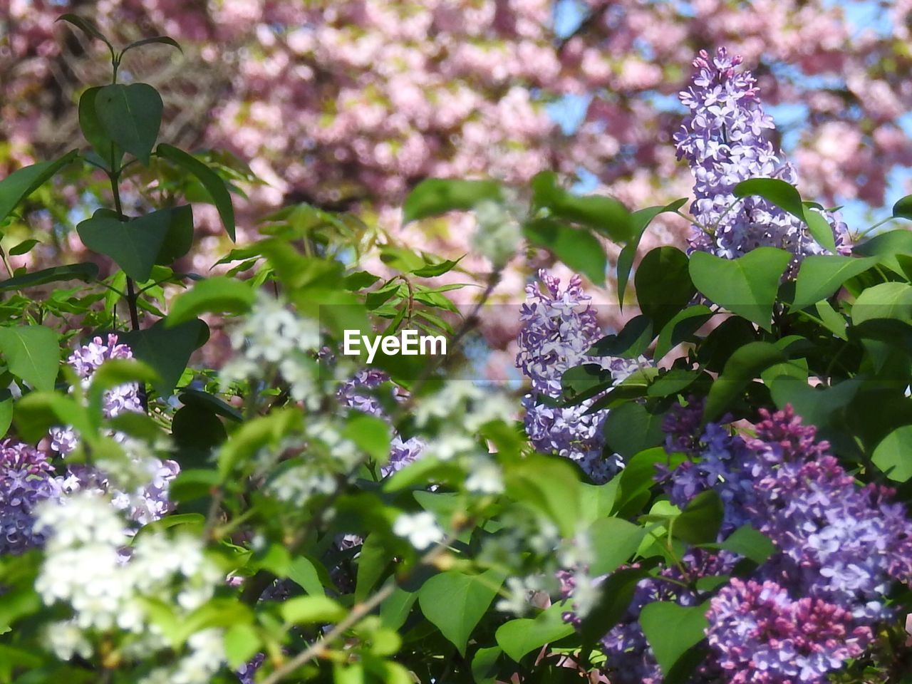
{"type": "MultiPolygon", "coordinates": [[[[150,615],[150,601],[164,602],[180,622],[212,598],[222,570],[200,539],[140,534],[128,548],[124,521],[107,497],[78,492],[37,509],[36,530],[47,537],[35,588],[47,606],[63,605],[72,617],[50,625],[47,642],[58,658],[90,658],[99,641],[119,635],[124,658],[141,664],[171,648],[150,615]]],[[[186,654],[156,668],[144,684],[207,684],[223,666],[222,630],[189,637],[186,654]]]]}

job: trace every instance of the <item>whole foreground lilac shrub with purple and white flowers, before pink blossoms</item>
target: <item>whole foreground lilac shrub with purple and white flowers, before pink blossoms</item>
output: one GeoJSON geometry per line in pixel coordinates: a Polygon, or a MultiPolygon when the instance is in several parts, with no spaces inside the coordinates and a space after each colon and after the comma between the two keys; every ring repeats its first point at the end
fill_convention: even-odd
{"type": "Polygon", "coordinates": [[[681,96],[692,216],[550,172],[418,184],[408,221],[478,214],[492,268],[461,310],[437,281],[457,262],[387,245],[394,275],[347,265],[327,237],[346,219],[300,206],[224,256],[232,275],[176,270],[190,202],[234,238],[238,189],[159,142],[161,98],[110,55],[79,101],[88,145],[0,181],[5,218],[67,165],[103,176],[113,208],[77,231],[117,266],[0,282],[0,681],[907,675],[912,239],[850,244],[803,201],[736,57],[700,54],[681,96]],[[175,192],[131,217],[134,164],[175,192]],[[623,329],[599,330],[580,277],[543,272],[518,316],[522,399],[466,379],[461,343],[520,239],[594,282],[617,244],[620,306],[662,213],[693,226],[689,253],[643,255],[623,329]],[[230,358],[205,368],[216,326],[230,358]],[[404,329],[450,352],[371,363],[343,343],[404,329]]]}

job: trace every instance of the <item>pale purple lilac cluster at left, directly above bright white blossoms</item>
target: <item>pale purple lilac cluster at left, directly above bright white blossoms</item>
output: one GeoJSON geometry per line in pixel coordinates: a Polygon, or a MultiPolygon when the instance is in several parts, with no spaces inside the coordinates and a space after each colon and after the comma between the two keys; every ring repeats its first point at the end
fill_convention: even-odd
{"type": "MultiPolygon", "coordinates": [[[[77,347],[67,358],[67,363],[76,371],[83,384],[91,382],[98,367],[110,359],[133,358],[130,347],[118,342],[117,335],[109,335],[107,340],[94,337],[88,344],[77,347]]],[[[104,394],[102,413],[106,418],[114,418],[126,411],[142,412],[139,388],[135,383],[127,383],[109,389],[104,394]]],[[[122,436],[115,435],[115,439],[122,436]]],[[[72,427],[54,428],[51,430],[51,449],[65,457],[76,449],[78,433],[72,427]]],[[[131,455],[134,466],[142,472],[144,484],[133,491],[119,490],[109,480],[109,473],[92,466],[70,464],[63,479],[63,488],[67,492],[77,490],[98,490],[108,492],[116,508],[127,513],[128,517],[140,524],[158,520],[171,510],[168,499],[170,482],[181,471],[176,461],[161,461],[150,454],[131,455]]]]}

